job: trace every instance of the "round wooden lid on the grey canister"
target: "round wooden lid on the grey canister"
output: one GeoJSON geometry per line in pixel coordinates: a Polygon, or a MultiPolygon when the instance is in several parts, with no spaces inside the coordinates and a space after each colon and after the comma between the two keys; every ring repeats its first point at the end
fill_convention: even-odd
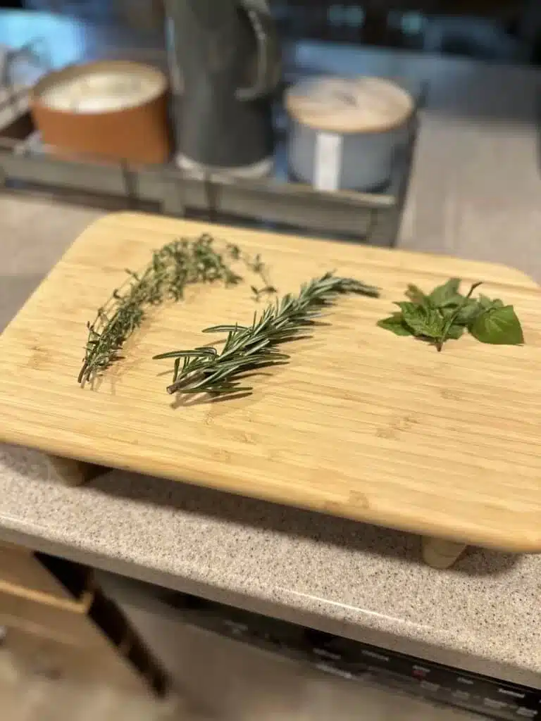
{"type": "Polygon", "coordinates": [[[289,114],[302,125],[335,133],[383,133],[413,112],[413,98],[396,83],[375,77],[319,77],[286,95],[289,114]]]}

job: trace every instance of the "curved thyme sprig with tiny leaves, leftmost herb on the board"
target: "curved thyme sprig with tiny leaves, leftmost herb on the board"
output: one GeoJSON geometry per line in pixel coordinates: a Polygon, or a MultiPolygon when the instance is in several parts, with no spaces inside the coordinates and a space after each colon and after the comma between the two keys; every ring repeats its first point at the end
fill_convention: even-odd
{"type": "MultiPolygon", "coordinates": [[[[107,303],[87,323],[88,338],[78,381],[84,384],[95,373],[105,371],[120,358],[119,351],[146,317],[146,307],[168,298],[179,301],[191,283],[223,280],[226,286],[242,280],[214,249],[214,239],[203,234],[197,239],[177,239],[154,251],[149,265],[140,273],[126,270],[128,280],[116,288],[107,303]]],[[[235,260],[229,247],[227,254],[235,260]]]]}

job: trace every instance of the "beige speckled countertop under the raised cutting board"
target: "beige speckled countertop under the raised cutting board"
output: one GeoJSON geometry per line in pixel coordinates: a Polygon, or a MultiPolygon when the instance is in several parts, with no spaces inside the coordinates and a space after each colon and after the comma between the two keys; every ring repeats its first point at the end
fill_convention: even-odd
{"type": "MultiPolygon", "coordinates": [[[[340,60],[324,55],[314,64],[340,60]]],[[[362,69],[430,81],[400,244],[541,280],[537,72],[399,53],[362,69]]],[[[98,215],[0,196],[0,327],[98,215]]],[[[415,536],[123,472],[63,487],[38,454],[5,446],[0,536],[541,688],[541,556],[470,549],[436,571],[415,536]]]]}

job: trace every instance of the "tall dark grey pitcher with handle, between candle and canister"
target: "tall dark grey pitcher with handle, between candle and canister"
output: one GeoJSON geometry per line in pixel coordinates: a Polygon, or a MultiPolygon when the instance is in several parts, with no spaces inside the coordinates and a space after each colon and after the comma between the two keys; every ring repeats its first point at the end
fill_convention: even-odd
{"type": "Polygon", "coordinates": [[[165,6],[170,67],[178,74],[178,163],[265,174],[272,166],[271,103],[280,77],[266,0],[167,0],[165,6]]]}

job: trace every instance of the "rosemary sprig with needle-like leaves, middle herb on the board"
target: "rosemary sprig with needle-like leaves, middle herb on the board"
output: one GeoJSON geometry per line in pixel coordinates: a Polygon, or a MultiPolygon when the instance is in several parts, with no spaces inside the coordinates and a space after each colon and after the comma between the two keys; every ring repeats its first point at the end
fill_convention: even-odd
{"type": "Polygon", "coordinates": [[[227,333],[221,353],[213,347],[193,350],[172,350],[155,355],[155,359],[173,358],[172,384],[167,392],[210,393],[216,395],[250,392],[242,386],[239,376],[277,363],[286,363],[289,355],[279,353],[278,343],[292,340],[300,332],[317,322],[322,310],[332,305],[344,293],[360,293],[377,297],[377,288],[366,286],[353,278],[340,278],[325,273],[302,286],[299,295],[288,293],[263,313],[254,314],[250,326],[216,325],[204,333],[227,333]],[[180,362],[182,361],[182,368],[180,362]]]}

